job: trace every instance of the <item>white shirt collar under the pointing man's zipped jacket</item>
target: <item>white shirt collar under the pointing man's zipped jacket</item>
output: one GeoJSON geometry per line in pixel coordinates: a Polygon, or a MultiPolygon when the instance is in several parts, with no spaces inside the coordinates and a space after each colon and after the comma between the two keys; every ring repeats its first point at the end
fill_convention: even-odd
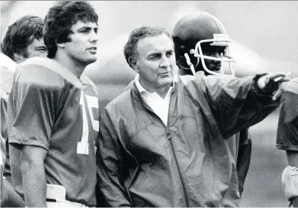
{"type": "Polygon", "coordinates": [[[146,102],[146,104],[148,104],[150,108],[152,108],[155,114],[162,120],[163,124],[165,124],[166,126],[168,125],[170,95],[172,94],[172,88],[174,88],[175,84],[177,83],[177,79],[177,75],[174,75],[173,84],[169,88],[166,97],[163,99],[156,92],[149,93],[148,91],[146,91],[145,88],[143,88],[143,86],[141,86],[141,83],[139,81],[139,73],[135,76],[135,84],[139,93],[141,94],[143,101],[146,102]]]}

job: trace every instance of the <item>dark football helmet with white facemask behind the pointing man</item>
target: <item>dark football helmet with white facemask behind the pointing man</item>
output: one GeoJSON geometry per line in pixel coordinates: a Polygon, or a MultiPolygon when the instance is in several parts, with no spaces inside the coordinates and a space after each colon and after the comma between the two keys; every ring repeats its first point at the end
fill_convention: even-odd
{"type": "Polygon", "coordinates": [[[226,63],[230,74],[235,75],[236,60],[228,54],[231,40],[224,25],[216,17],[207,12],[191,13],[172,26],[171,34],[175,44],[176,62],[180,68],[192,70],[194,75],[198,70],[205,70],[212,75],[223,75],[224,67],[221,63],[226,63]],[[208,60],[218,62],[217,69],[208,68],[208,60]]]}

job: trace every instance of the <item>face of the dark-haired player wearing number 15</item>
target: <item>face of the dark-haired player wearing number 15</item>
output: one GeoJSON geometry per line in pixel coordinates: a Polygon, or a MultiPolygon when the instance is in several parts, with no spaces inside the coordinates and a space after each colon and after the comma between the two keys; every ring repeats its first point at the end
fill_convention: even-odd
{"type": "Polygon", "coordinates": [[[91,64],[97,60],[97,23],[78,21],[72,28],[70,42],[65,43],[68,57],[75,62],[91,64]]]}

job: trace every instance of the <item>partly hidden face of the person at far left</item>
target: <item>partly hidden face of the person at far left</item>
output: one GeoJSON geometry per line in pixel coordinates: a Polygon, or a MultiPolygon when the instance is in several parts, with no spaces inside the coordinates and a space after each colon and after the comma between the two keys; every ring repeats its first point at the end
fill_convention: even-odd
{"type": "Polygon", "coordinates": [[[48,50],[43,43],[43,39],[34,39],[31,44],[27,47],[26,53],[19,56],[16,62],[19,64],[31,57],[46,57],[48,55],[48,50]]]}

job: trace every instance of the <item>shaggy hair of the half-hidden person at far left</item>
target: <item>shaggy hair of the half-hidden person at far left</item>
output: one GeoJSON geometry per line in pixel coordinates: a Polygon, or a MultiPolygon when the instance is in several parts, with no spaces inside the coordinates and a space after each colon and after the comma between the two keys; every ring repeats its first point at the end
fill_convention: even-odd
{"type": "Polygon", "coordinates": [[[3,54],[16,61],[14,54],[28,57],[28,46],[34,39],[43,36],[43,19],[32,15],[26,15],[12,23],[1,43],[3,54]]]}

